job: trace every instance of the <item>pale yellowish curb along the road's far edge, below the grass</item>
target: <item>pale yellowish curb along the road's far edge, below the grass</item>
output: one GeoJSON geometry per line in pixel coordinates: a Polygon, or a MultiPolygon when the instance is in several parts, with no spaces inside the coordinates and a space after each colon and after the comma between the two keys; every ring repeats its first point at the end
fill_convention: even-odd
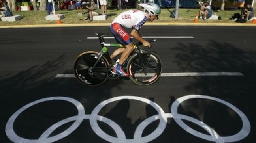
{"type": "MultiPolygon", "coordinates": [[[[146,26],[256,26],[250,23],[171,23],[171,22],[148,22],[146,26]]],[[[77,27],[77,26],[110,26],[110,23],[88,24],[41,24],[41,25],[6,25],[0,28],[40,28],[40,27],[77,27]]]]}

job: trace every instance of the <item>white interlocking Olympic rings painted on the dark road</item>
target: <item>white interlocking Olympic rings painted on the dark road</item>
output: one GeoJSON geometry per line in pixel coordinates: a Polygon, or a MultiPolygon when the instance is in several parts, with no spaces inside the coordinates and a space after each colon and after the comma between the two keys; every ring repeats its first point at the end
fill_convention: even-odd
{"type": "Polygon", "coordinates": [[[85,110],[83,105],[78,102],[77,100],[73,99],[73,98],[68,98],[68,97],[50,97],[50,98],[43,98],[40,100],[36,100],[34,102],[31,102],[25,106],[23,106],[22,108],[20,108],[19,110],[17,110],[8,120],[7,124],[6,124],[6,135],[8,136],[8,138],[15,142],[15,143],[51,143],[54,141],[58,141],[66,136],[68,136],[69,134],[71,134],[74,130],[76,130],[78,128],[78,126],[80,126],[81,122],[83,121],[83,119],[89,119],[90,121],[90,125],[92,127],[92,130],[102,139],[104,139],[105,141],[109,141],[112,143],[117,143],[117,142],[122,142],[122,143],[146,143],[149,141],[152,141],[154,139],[156,139],[158,136],[160,136],[162,134],[162,132],[164,132],[165,128],[166,128],[166,124],[167,124],[167,119],[168,118],[173,118],[174,121],[176,121],[177,124],[179,124],[179,126],[181,126],[181,128],[183,128],[184,130],[186,130],[187,132],[189,132],[190,134],[196,136],[196,137],[200,137],[201,139],[205,139],[208,141],[214,141],[216,143],[225,143],[225,142],[235,142],[235,141],[239,141],[241,139],[244,139],[245,137],[248,136],[248,134],[250,133],[250,122],[248,120],[248,118],[246,117],[246,115],[239,110],[238,108],[236,108],[235,106],[233,106],[232,104],[221,100],[219,98],[215,98],[215,97],[209,97],[206,95],[187,95],[184,97],[180,97],[177,100],[175,100],[175,102],[173,102],[172,106],[171,106],[171,113],[164,113],[164,111],[162,110],[162,108],[156,104],[155,102],[148,100],[146,98],[142,98],[142,97],[136,97],[136,96],[120,96],[120,97],[113,97],[110,99],[107,99],[103,102],[101,102],[100,104],[98,104],[98,106],[96,106],[94,108],[94,110],[92,111],[91,114],[85,114],[85,110]],[[179,113],[177,113],[177,108],[178,106],[181,104],[181,102],[183,102],[184,100],[188,100],[188,99],[192,99],[192,98],[204,98],[204,99],[209,99],[209,100],[214,100],[216,102],[222,103],[228,107],[230,107],[232,110],[234,110],[240,117],[243,123],[243,127],[242,129],[235,135],[232,136],[219,136],[215,130],[213,130],[213,128],[209,127],[207,124],[203,123],[202,121],[186,116],[186,115],[181,115],[179,113]],[[118,101],[118,100],[124,100],[124,99],[128,99],[128,100],[138,100],[141,102],[145,102],[149,105],[151,105],[157,112],[157,115],[153,115],[147,119],[145,119],[144,121],[142,121],[136,128],[135,132],[134,132],[134,138],[133,139],[126,139],[126,136],[124,134],[124,131],[122,130],[122,128],[115,123],[114,121],[112,121],[111,119],[108,119],[106,117],[100,116],[98,115],[99,111],[107,104],[114,102],[114,101],[118,101]],[[59,121],[58,123],[53,124],[51,127],[49,127],[47,130],[45,130],[45,132],[43,132],[43,134],[39,137],[39,139],[25,139],[23,137],[18,136],[15,131],[13,130],[13,124],[15,122],[15,119],[26,109],[30,108],[31,106],[34,106],[35,104],[41,103],[41,102],[46,102],[46,101],[50,101],[50,100],[64,100],[64,101],[68,101],[71,102],[72,104],[74,104],[78,110],[78,115],[76,116],[72,116],[72,117],[68,117],[66,119],[63,119],[62,121],[59,121]],[[192,128],[190,128],[189,126],[187,126],[183,121],[187,120],[190,121],[194,124],[197,124],[198,126],[201,126],[204,130],[206,130],[208,134],[203,134],[201,132],[198,132],[192,128]],[[160,120],[160,123],[158,124],[158,127],[156,128],[156,130],[154,130],[151,134],[142,137],[142,133],[145,130],[145,128],[151,124],[153,121],[156,120],[160,120]],[[63,131],[60,134],[57,134],[55,136],[49,137],[50,134],[55,131],[58,127],[75,121],[68,129],[66,129],[65,131],[63,131]],[[98,125],[97,121],[102,121],[106,124],[108,124],[111,128],[113,128],[113,130],[115,131],[117,137],[113,137],[110,136],[109,134],[105,133],[98,125]]]}

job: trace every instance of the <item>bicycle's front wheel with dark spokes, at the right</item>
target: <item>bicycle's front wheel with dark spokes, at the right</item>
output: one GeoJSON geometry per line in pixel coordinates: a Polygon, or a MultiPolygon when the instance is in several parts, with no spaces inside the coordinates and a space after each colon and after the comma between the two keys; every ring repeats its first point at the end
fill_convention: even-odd
{"type": "Polygon", "coordinates": [[[127,71],[135,84],[149,85],[160,78],[162,64],[154,52],[136,53],[128,61],[127,71]]]}

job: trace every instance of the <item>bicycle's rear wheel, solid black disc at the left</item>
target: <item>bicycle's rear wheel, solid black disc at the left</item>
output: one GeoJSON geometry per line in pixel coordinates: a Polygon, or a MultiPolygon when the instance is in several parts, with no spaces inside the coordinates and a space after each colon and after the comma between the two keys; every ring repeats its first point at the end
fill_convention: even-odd
{"type": "Polygon", "coordinates": [[[75,59],[74,74],[77,80],[88,86],[100,85],[107,80],[109,63],[102,56],[96,66],[92,68],[98,57],[98,52],[87,51],[81,53],[75,59]]]}

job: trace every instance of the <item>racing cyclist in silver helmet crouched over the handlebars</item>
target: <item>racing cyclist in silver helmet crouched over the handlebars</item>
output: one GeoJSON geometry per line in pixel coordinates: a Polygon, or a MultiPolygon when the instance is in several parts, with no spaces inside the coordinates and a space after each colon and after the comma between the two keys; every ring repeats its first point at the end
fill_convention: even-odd
{"type": "Polygon", "coordinates": [[[113,72],[121,76],[129,76],[128,73],[122,69],[122,64],[134,50],[130,35],[137,41],[143,43],[143,46],[150,48],[151,44],[141,37],[139,29],[147,20],[153,21],[154,19],[158,19],[158,15],[161,12],[160,6],[155,3],[142,3],[139,4],[139,6],[145,8],[146,11],[143,12],[137,9],[124,11],[114,19],[110,26],[111,33],[114,35],[117,42],[125,46],[125,48],[118,48],[110,56],[110,58],[113,59],[122,53],[119,63],[113,70],[113,72]],[[124,30],[124,27],[132,28],[130,35],[124,30]]]}

